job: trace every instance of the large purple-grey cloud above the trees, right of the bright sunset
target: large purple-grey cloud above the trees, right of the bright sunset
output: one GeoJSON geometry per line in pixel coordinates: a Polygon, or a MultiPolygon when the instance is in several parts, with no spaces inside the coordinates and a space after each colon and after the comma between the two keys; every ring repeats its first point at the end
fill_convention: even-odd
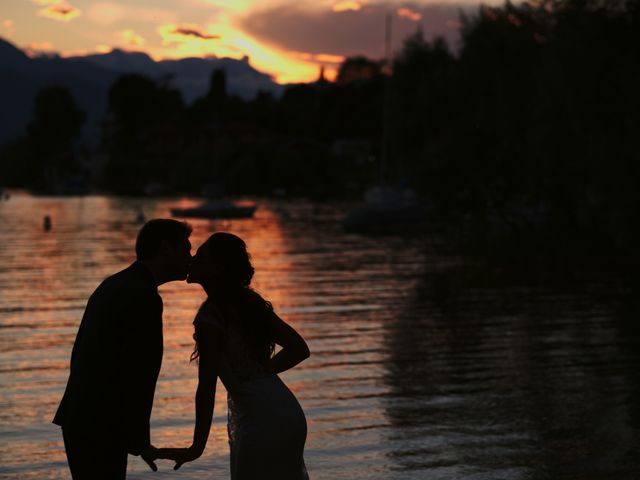
{"type": "Polygon", "coordinates": [[[468,3],[420,5],[393,2],[365,4],[357,11],[320,11],[304,6],[281,5],[249,14],[242,19],[241,27],[261,41],[286,50],[382,57],[387,12],[395,12],[392,31],[395,50],[419,27],[426,38],[443,36],[455,46],[460,11],[468,11],[469,8],[468,3]],[[398,15],[400,9],[404,9],[401,12],[404,15],[398,15]],[[417,15],[408,15],[409,11],[417,15]],[[409,18],[420,16],[419,21],[409,18]]]}

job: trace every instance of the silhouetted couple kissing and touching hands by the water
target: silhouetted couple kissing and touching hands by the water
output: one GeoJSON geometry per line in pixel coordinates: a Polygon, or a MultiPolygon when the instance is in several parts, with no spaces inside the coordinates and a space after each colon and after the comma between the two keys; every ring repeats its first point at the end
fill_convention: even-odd
{"type": "Polygon", "coordinates": [[[227,390],[231,478],[308,479],[306,419],[277,375],[309,356],[307,344],[251,289],[254,270],[240,238],[214,233],[192,258],[190,235],[186,223],[149,221],[138,234],[137,261],[89,298],[53,420],[62,427],[74,480],[123,479],[128,454],[140,455],[153,471],[159,458],[175,461],[177,469],[200,457],[218,377],[227,390]],[[156,448],[149,418],[163,349],[157,288],[185,279],[207,293],[194,320],[193,443],[156,448]],[[274,355],[275,344],[282,349],[274,355]]]}

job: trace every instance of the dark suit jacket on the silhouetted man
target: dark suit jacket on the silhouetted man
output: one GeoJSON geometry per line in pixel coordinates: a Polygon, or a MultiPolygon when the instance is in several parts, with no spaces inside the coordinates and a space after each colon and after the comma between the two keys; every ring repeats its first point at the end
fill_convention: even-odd
{"type": "Polygon", "coordinates": [[[139,455],[162,362],[162,299],[135,262],[89,298],[71,353],[67,388],[53,423],[121,441],[139,455]]]}

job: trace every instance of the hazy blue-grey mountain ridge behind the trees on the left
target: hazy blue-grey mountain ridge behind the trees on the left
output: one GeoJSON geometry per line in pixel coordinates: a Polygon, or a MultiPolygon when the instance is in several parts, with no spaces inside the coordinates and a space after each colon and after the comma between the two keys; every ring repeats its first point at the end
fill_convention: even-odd
{"type": "Polygon", "coordinates": [[[183,58],[156,62],[145,53],[113,50],[84,57],[30,58],[0,38],[0,144],[24,133],[31,118],[37,92],[52,84],[63,85],[87,113],[83,137],[90,144],[100,139],[100,121],[107,109],[107,92],[124,73],[142,73],[155,79],[170,79],[184,100],[191,103],[209,88],[211,73],[222,68],[227,90],[250,99],[260,91],[279,95],[282,85],[255,70],[247,58],[183,58]]]}

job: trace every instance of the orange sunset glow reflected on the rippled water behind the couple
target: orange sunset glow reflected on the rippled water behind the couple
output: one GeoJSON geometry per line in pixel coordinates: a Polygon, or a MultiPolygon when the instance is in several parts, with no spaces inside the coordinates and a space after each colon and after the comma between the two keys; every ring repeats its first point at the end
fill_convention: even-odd
{"type": "MultiPolygon", "coordinates": [[[[0,320],[7,327],[0,330],[0,374],[6,387],[0,432],[17,439],[11,437],[10,450],[0,447],[0,476],[3,468],[10,468],[17,472],[15,478],[46,478],[35,469],[30,450],[47,444],[43,464],[53,472],[52,478],[65,477],[60,431],[50,421],[64,390],[86,301],[106,276],[133,261],[139,211],[148,219],[167,218],[172,207],[201,201],[16,196],[0,205],[0,224],[11,232],[0,242],[0,264],[7,273],[0,276],[0,320]],[[53,221],[49,232],[42,229],[45,214],[53,221]]],[[[375,262],[358,260],[352,251],[349,258],[356,260],[345,264],[345,237],[327,232],[334,228],[333,220],[315,206],[259,203],[252,219],[188,219],[194,229],[191,242],[195,251],[219,230],[243,238],[256,269],[255,288],[308,340],[311,358],[282,378],[305,410],[308,448],[314,452],[331,443],[341,429],[369,432],[368,426],[382,424],[382,411],[375,398],[367,396],[380,391],[375,384],[385,352],[375,348],[381,339],[376,330],[379,319],[367,292],[354,287],[369,274],[352,268],[372,268],[375,262]]],[[[189,364],[192,321],[205,295],[198,285],[183,282],[168,283],[159,291],[164,302],[164,358],[151,418],[152,439],[158,446],[186,446],[193,436],[197,384],[197,367],[189,364]]],[[[376,299],[376,304],[381,301],[376,299]]],[[[347,452],[361,438],[378,444],[379,434],[371,432],[341,436],[342,450],[347,452]]],[[[209,447],[198,463],[205,467],[194,467],[189,478],[228,477],[227,456],[226,392],[218,383],[209,447]]],[[[162,468],[170,468],[169,463],[162,468]]],[[[343,467],[347,465],[351,464],[343,467]]],[[[142,475],[147,467],[132,458],[130,468],[142,475]]]]}

